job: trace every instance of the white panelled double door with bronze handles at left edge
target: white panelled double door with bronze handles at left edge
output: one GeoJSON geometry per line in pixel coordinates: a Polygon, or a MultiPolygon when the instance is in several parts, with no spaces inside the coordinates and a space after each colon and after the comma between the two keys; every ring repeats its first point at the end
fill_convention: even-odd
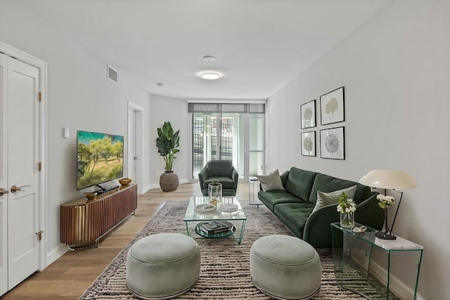
{"type": "Polygon", "coordinates": [[[39,69],[14,58],[4,61],[0,183],[8,194],[0,197],[7,207],[1,243],[8,271],[6,278],[2,271],[0,281],[10,290],[39,270],[39,69]]]}

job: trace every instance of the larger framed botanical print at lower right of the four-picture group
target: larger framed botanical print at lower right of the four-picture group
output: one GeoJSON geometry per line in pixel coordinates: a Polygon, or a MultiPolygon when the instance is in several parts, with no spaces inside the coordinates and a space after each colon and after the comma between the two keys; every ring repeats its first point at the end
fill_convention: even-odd
{"type": "Polygon", "coordinates": [[[345,159],[344,127],[321,130],[321,157],[345,159]]]}

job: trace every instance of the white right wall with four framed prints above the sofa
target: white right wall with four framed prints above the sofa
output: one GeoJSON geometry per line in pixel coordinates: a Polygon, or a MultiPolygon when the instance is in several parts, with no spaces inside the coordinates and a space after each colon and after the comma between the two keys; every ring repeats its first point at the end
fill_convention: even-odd
{"type": "Polygon", "coordinates": [[[416,178],[394,233],[425,247],[418,292],[427,300],[450,299],[449,79],[450,2],[393,1],[267,107],[267,171],[295,166],[359,181],[371,169],[401,169],[416,178]],[[320,126],[318,113],[317,156],[302,157],[300,105],[316,99],[319,111],[319,97],[340,86],[345,122],[320,126]],[[320,158],[319,130],[334,126],[345,126],[345,160],[320,158]]]}

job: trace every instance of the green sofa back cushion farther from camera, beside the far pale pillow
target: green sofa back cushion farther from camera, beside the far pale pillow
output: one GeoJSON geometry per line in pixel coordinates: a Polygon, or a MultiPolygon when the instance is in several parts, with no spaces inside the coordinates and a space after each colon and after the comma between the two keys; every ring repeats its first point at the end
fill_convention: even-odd
{"type": "Polygon", "coordinates": [[[288,180],[285,185],[286,192],[299,197],[303,202],[308,202],[316,174],[316,172],[306,171],[296,167],[290,168],[288,180]]]}

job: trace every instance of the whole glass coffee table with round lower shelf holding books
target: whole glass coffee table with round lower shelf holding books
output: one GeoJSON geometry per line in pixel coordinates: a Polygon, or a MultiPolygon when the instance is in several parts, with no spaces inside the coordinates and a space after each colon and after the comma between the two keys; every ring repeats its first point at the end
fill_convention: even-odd
{"type": "Polygon", "coordinates": [[[198,211],[195,207],[206,206],[210,204],[209,197],[191,197],[189,200],[188,209],[186,209],[186,214],[184,215],[183,221],[186,223],[186,233],[191,235],[196,233],[203,237],[208,238],[219,238],[219,237],[229,237],[230,235],[235,235],[238,240],[238,244],[242,242],[244,236],[245,221],[247,217],[240,207],[240,203],[236,200],[236,197],[224,197],[222,202],[216,204],[216,208],[212,211],[198,211]],[[236,205],[236,211],[227,211],[230,206],[236,205]],[[224,211],[222,211],[223,209],[224,211]],[[229,230],[220,233],[205,233],[200,230],[200,225],[204,222],[219,221],[229,225],[229,230]]]}

